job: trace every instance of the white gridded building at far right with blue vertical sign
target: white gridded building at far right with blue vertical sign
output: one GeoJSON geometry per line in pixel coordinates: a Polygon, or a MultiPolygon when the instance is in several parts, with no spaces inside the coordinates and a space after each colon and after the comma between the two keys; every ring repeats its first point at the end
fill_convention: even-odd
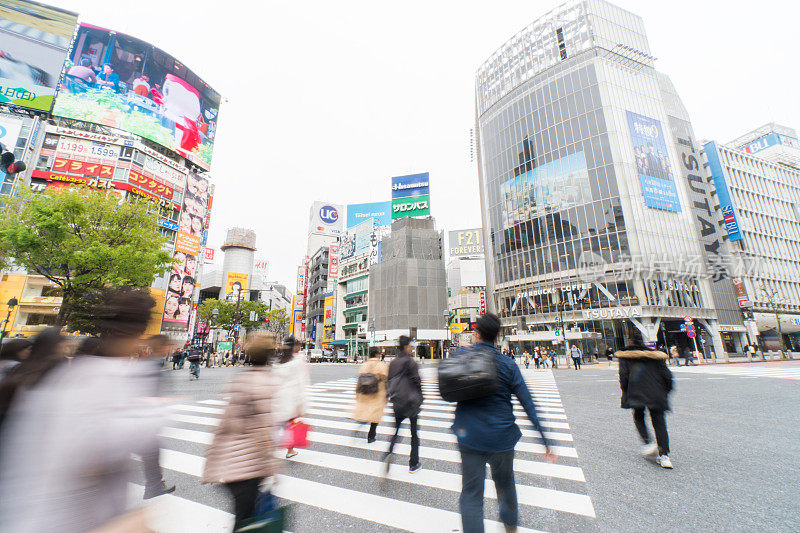
{"type": "Polygon", "coordinates": [[[756,330],[766,350],[800,349],[800,142],[775,124],[732,143],[704,146],[725,215],[735,263],[739,304],[751,341],[756,330]],[[765,131],[766,130],[766,131],[765,131]],[[776,319],[776,315],[778,318],[776,319]]]}

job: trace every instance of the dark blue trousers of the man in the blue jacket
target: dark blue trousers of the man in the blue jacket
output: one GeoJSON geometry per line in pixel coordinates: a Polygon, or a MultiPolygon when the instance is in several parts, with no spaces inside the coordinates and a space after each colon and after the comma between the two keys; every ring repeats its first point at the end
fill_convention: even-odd
{"type": "Polygon", "coordinates": [[[483,486],[486,463],[492,468],[492,480],[500,504],[500,521],[516,527],[519,521],[517,486],[514,483],[514,450],[479,452],[459,446],[461,452],[461,525],[464,533],[483,533],[483,486]]]}

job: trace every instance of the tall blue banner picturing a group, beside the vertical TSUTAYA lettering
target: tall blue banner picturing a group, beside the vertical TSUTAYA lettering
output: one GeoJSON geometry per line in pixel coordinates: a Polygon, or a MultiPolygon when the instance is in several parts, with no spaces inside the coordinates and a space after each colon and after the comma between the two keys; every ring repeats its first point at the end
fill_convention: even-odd
{"type": "Polygon", "coordinates": [[[632,111],[626,113],[644,205],[680,212],[681,203],[661,122],[632,111]]]}

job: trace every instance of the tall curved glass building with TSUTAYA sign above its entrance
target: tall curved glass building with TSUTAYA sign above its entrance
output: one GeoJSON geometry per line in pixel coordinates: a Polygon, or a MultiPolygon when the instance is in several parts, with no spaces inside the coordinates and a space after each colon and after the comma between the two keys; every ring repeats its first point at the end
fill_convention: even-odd
{"type": "Polygon", "coordinates": [[[586,0],[525,27],[478,70],[476,121],[506,343],[566,333],[600,351],[637,328],[646,342],[741,349],[722,335],[744,326],[713,185],[640,17],[586,0]]]}

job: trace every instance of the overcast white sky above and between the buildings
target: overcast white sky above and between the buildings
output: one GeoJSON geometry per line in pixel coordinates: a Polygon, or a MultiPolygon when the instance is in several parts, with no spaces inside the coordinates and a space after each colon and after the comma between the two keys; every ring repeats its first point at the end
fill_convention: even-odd
{"type": "MultiPolygon", "coordinates": [[[[292,289],[313,200],[389,197],[391,176],[430,172],[440,228],[480,225],[469,157],[477,67],[563,3],[41,0],[152,42],[224,97],[209,245],[257,232],[271,278],[292,289]]],[[[800,128],[792,0],[617,0],[644,18],[698,137],[769,121],[800,128]]]]}

